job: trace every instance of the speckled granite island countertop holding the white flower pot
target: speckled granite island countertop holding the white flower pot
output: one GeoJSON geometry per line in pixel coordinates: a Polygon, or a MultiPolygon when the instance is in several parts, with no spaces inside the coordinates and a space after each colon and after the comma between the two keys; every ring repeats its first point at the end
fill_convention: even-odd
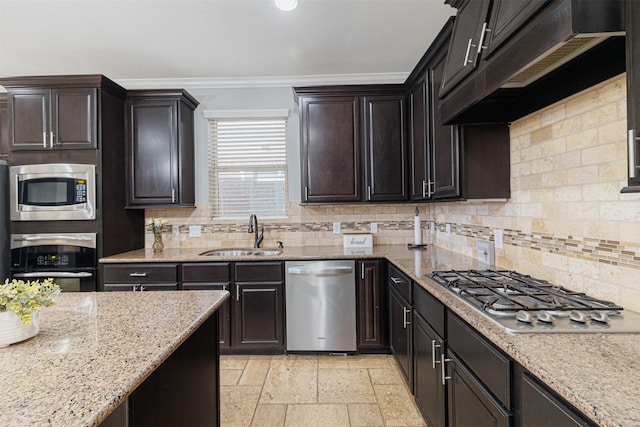
{"type": "Polygon", "coordinates": [[[228,297],[60,294],[42,309],[38,335],[0,348],[0,425],[98,425],[228,297]]]}

